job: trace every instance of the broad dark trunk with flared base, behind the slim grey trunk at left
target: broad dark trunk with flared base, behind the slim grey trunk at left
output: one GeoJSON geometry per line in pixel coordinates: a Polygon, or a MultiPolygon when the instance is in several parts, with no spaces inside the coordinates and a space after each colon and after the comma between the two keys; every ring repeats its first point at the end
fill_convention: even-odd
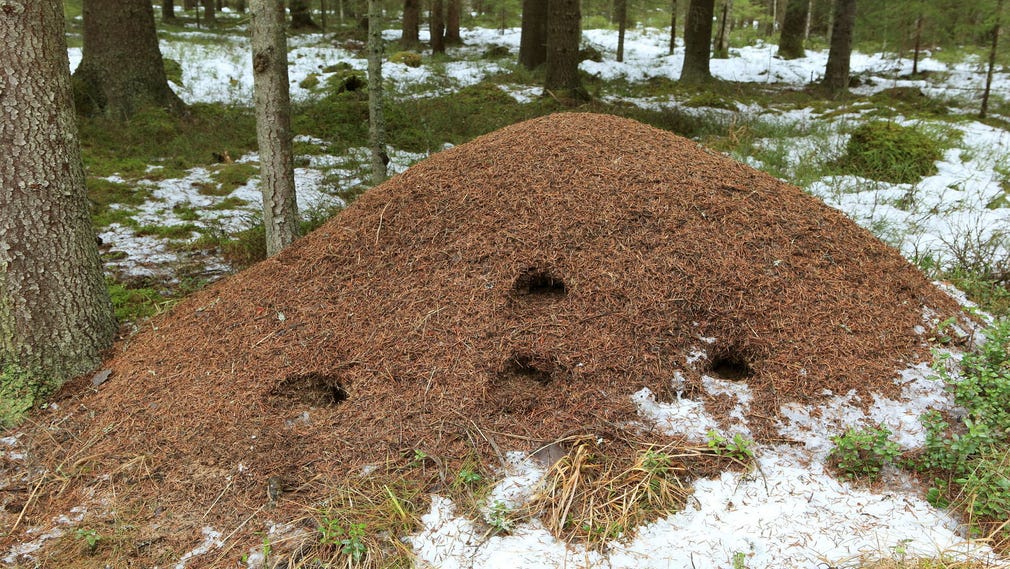
{"type": "Polygon", "coordinates": [[[77,110],[128,118],[144,106],[182,112],[169,87],[147,0],[85,0],[84,56],[74,73],[77,110]]]}

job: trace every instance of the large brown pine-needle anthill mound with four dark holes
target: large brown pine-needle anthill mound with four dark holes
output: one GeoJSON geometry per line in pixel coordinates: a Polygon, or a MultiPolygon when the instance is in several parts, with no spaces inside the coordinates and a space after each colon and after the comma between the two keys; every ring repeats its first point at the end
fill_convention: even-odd
{"type": "Polygon", "coordinates": [[[672,397],[678,371],[716,410],[702,373],[747,382],[773,438],[783,403],[895,395],[926,356],[924,308],[957,313],[798,188],[628,119],[554,114],[430,157],[146,324],[31,436],[77,474],[21,529],[101,496],[158,539],[251,536],[251,513],[284,517],[258,510],[272,478],[296,496],[283,509],[415,449],[497,463],[626,424],[630,395],[672,397]]]}

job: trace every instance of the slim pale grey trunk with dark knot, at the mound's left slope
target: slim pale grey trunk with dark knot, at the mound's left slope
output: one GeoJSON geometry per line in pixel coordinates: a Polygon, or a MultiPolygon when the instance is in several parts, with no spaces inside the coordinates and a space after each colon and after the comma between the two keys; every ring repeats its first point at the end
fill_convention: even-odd
{"type": "Polygon", "coordinates": [[[249,11],[263,224],[267,255],[273,256],[295,241],[299,232],[291,149],[288,42],[284,35],[283,4],[278,0],[250,0],[249,11]]]}

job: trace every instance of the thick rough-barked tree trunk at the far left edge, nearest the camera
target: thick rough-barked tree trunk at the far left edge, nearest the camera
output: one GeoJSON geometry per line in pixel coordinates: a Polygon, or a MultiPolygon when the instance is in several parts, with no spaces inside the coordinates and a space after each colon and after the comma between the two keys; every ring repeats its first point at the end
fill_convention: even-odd
{"type": "Polygon", "coordinates": [[[63,2],[0,0],[0,366],[35,374],[44,391],[94,369],[116,331],[88,212],[63,2]]]}

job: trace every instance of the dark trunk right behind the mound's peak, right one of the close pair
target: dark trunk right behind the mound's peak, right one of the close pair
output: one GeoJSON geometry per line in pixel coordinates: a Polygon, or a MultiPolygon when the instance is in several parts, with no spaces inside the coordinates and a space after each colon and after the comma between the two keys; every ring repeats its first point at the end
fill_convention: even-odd
{"type": "Polygon", "coordinates": [[[543,88],[563,98],[588,99],[579,78],[582,11],[579,0],[547,0],[547,67],[543,88]]]}

